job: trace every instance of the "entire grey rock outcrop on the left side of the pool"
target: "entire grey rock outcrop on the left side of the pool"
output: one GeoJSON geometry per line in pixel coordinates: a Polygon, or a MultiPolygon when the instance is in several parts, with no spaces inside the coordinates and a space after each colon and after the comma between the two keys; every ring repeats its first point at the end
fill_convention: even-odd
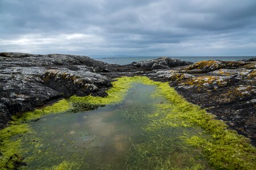
{"type": "Polygon", "coordinates": [[[106,96],[110,79],[96,71],[116,70],[85,56],[0,53],[0,129],[14,114],[71,95],[106,96]]]}

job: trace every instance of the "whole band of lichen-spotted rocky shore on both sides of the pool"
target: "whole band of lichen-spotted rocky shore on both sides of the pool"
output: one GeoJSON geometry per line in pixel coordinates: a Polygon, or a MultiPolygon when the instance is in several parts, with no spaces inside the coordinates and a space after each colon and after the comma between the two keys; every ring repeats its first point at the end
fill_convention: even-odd
{"type": "Polygon", "coordinates": [[[63,97],[104,97],[113,78],[134,75],[170,82],[255,146],[256,58],[191,63],[162,57],[121,66],[85,56],[0,53],[0,129],[12,115],[63,97]]]}

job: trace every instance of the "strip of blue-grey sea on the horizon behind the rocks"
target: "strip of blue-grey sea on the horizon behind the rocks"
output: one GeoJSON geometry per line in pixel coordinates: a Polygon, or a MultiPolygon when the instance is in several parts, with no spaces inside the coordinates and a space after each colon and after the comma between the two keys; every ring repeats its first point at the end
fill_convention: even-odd
{"type": "MultiPolygon", "coordinates": [[[[115,63],[118,65],[126,65],[131,62],[135,61],[141,61],[145,59],[156,59],[159,57],[104,57],[104,58],[94,58],[99,61],[107,62],[107,63],[115,63]]],[[[184,61],[190,61],[190,62],[198,62],[198,61],[204,61],[209,59],[217,59],[222,61],[237,61],[241,59],[249,59],[253,57],[170,57],[170,58],[177,58],[182,59],[184,61]]]]}

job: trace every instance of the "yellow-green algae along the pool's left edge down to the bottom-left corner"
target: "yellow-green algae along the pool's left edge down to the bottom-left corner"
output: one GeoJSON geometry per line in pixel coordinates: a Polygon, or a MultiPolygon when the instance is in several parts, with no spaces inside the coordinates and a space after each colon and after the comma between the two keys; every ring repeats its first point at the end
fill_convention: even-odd
{"type": "Polygon", "coordinates": [[[15,137],[22,135],[24,133],[31,132],[30,125],[24,123],[26,121],[35,120],[37,118],[46,116],[47,114],[56,114],[67,111],[71,108],[71,104],[67,100],[59,100],[53,105],[43,107],[41,109],[35,109],[35,111],[26,112],[24,114],[15,115],[12,117],[13,121],[10,122],[10,126],[5,129],[0,130],[0,167],[6,169],[13,168],[15,164],[13,162],[22,162],[19,160],[10,160],[13,155],[21,155],[22,150],[20,150],[21,139],[15,139],[15,137]]]}

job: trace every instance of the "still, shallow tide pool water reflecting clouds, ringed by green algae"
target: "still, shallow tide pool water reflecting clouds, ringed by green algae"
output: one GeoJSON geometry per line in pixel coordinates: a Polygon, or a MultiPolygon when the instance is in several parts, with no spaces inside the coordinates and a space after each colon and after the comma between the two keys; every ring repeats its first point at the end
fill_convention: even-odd
{"type": "MultiPolygon", "coordinates": [[[[164,167],[210,169],[200,150],[180,139],[200,128],[155,128],[155,86],[133,84],[119,104],[93,111],[65,112],[31,122],[34,133],[24,135],[25,169],[43,169],[63,161],[78,169],[154,169],[164,167]]],[[[171,111],[170,111],[171,112],[171,111]]]]}

